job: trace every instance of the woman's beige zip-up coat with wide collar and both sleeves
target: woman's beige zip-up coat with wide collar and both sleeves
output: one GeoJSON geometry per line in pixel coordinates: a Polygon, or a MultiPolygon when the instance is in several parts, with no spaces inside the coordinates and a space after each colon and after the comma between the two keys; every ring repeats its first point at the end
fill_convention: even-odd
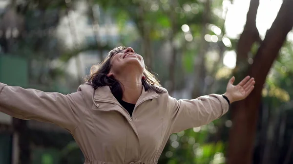
{"type": "Polygon", "coordinates": [[[143,89],[130,117],[107,86],[94,90],[85,83],[63,95],[0,83],[0,112],[68,130],[84,164],[157,164],[170,134],[206,125],[228,109],[218,94],[176,100],[143,89]]]}

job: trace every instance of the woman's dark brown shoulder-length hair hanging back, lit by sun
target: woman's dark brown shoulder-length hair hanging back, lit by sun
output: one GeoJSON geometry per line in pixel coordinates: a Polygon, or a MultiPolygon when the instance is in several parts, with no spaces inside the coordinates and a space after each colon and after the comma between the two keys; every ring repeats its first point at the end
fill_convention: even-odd
{"type": "MultiPolygon", "coordinates": [[[[95,90],[99,87],[109,86],[112,91],[112,94],[116,98],[119,98],[119,99],[122,98],[122,95],[123,95],[122,84],[114,77],[108,77],[107,74],[109,73],[111,69],[110,59],[112,58],[112,56],[117,51],[125,50],[126,48],[127,47],[124,47],[124,46],[114,48],[108,53],[107,57],[101,64],[94,65],[91,67],[90,75],[87,77],[86,81],[91,83],[91,85],[93,86],[95,90]]],[[[142,85],[144,86],[146,91],[152,90],[152,91],[156,91],[157,93],[165,92],[156,87],[156,86],[161,87],[161,84],[155,75],[147,71],[146,67],[145,67],[144,75],[146,78],[142,79],[142,85]]]]}

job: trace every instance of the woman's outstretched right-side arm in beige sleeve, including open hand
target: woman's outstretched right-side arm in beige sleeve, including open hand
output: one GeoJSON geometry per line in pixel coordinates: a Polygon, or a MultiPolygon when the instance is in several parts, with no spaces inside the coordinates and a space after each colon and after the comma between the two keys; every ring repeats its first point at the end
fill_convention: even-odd
{"type": "MultiPolygon", "coordinates": [[[[245,99],[254,88],[254,79],[244,78],[234,86],[232,77],[223,94],[230,103],[245,99]]],[[[229,109],[228,101],[219,94],[200,96],[192,100],[176,100],[169,96],[168,109],[171,114],[171,133],[180,132],[188,128],[200,127],[218,119],[229,109]]]]}

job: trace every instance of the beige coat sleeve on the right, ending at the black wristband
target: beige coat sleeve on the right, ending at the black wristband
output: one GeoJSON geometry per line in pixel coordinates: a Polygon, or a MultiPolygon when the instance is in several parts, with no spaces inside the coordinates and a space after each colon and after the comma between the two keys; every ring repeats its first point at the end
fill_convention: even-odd
{"type": "Polygon", "coordinates": [[[176,100],[168,97],[171,133],[209,124],[225,114],[228,101],[219,94],[201,96],[192,100],[176,100]]]}

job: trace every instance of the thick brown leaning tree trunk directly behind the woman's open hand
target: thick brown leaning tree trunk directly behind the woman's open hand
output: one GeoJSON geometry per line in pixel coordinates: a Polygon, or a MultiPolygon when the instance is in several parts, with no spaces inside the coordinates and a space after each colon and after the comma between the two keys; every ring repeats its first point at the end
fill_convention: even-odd
{"type": "Polygon", "coordinates": [[[233,126],[230,129],[228,164],[251,164],[261,91],[272,63],[293,27],[292,6],[293,0],[283,1],[248,70],[248,75],[256,81],[254,90],[245,100],[232,105],[233,126]]]}

